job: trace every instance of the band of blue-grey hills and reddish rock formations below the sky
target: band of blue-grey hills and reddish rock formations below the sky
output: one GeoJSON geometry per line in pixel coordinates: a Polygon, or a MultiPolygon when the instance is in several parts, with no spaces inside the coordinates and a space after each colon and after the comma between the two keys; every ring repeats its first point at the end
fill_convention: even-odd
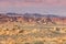
{"type": "Polygon", "coordinates": [[[30,22],[37,24],[66,24],[66,18],[54,14],[38,13],[1,13],[0,22],[30,22]]]}

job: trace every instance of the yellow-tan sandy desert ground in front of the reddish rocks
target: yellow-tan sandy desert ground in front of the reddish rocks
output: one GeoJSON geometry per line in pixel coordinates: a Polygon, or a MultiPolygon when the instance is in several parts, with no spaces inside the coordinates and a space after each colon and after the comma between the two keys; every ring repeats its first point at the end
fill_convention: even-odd
{"type": "Polygon", "coordinates": [[[0,24],[0,44],[66,44],[66,25],[7,22],[0,24]]]}

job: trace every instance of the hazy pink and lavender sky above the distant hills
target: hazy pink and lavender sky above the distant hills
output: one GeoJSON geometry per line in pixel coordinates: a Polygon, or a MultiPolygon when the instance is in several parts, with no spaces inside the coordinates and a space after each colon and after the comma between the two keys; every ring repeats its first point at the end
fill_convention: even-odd
{"type": "Polygon", "coordinates": [[[0,0],[0,13],[7,12],[66,15],[66,0],[0,0]]]}

